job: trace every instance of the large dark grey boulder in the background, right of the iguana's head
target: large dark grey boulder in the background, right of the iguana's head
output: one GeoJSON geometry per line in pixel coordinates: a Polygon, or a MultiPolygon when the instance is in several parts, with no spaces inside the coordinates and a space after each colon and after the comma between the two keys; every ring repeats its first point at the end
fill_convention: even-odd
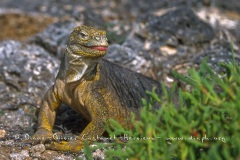
{"type": "Polygon", "coordinates": [[[148,15],[140,24],[138,35],[173,46],[210,42],[214,38],[213,28],[190,8],[177,8],[162,16],[148,15]]]}

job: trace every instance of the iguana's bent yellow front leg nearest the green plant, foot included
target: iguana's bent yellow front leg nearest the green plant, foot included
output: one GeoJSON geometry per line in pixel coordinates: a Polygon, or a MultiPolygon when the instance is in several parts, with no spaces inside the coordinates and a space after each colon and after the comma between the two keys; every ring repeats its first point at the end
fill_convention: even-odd
{"type": "Polygon", "coordinates": [[[91,97],[90,100],[91,102],[89,105],[91,107],[89,107],[88,110],[92,117],[92,121],[81,132],[77,139],[69,142],[53,142],[52,144],[46,146],[47,149],[64,152],[79,152],[83,148],[84,140],[87,140],[88,143],[91,143],[92,141],[97,141],[97,138],[102,136],[105,131],[103,123],[107,122],[109,116],[107,104],[100,94],[95,94],[95,96],[91,97]]]}

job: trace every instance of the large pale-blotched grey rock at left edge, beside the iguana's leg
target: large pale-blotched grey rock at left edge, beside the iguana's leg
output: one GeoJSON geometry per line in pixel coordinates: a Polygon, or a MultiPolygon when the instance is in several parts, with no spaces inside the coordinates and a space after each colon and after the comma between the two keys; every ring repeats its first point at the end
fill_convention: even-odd
{"type": "Polygon", "coordinates": [[[59,61],[43,48],[17,41],[0,43],[0,123],[31,126],[41,97],[53,84],[59,61]]]}

